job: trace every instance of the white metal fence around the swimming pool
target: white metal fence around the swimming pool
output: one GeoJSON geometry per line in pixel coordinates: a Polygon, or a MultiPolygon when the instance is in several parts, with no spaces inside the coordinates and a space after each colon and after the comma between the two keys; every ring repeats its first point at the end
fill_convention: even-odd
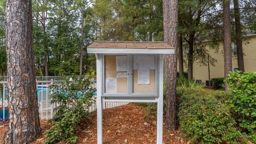
{"type": "MultiPolygon", "coordinates": [[[[70,78],[70,77],[66,77],[70,78]]],[[[7,94],[7,77],[0,77],[0,119],[6,119],[8,116],[8,94],[7,94]]],[[[96,78],[91,79],[91,86],[96,87],[96,78]]],[[[58,107],[58,103],[51,104],[51,94],[49,86],[52,84],[61,84],[65,81],[65,77],[62,76],[47,76],[47,77],[36,77],[36,87],[37,87],[37,100],[38,100],[38,110],[39,117],[41,119],[50,119],[54,115],[54,108],[58,107]]],[[[94,97],[95,100],[96,97],[94,97]]],[[[95,102],[88,111],[96,110],[95,102]]],[[[113,108],[117,106],[126,105],[128,102],[105,102],[103,103],[103,109],[113,108]]]]}

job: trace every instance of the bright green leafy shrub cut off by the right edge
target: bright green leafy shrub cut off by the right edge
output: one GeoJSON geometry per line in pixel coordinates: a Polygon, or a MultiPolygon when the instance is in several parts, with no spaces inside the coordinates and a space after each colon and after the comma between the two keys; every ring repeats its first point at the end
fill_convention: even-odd
{"type": "Polygon", "coordinates": [[[235,71],[229,73],[225,82],[229,83],[228,89],[233,94],[228,102],[239,126],[256,141],[256,73],[235,71]]]}

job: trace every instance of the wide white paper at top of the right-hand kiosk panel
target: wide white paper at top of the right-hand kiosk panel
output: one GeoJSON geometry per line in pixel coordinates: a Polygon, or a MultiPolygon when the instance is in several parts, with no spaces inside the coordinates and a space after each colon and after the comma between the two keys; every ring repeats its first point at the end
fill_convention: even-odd
{"type": "Polygon", "coordinates": [[[133,69],[155,69],[155,55],[133,55],[133,69]]]}

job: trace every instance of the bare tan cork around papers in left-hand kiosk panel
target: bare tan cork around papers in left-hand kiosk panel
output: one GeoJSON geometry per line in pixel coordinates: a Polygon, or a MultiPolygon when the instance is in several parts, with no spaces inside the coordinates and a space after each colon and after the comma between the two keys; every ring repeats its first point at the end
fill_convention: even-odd
{"type": "MultiPolygon", "coordinates": [[[[116,56],[105,55],[105,78],[116,78],[116,56]]],[[[127,93],[127,77],[117,78],[117,93],[127,93]]]]}

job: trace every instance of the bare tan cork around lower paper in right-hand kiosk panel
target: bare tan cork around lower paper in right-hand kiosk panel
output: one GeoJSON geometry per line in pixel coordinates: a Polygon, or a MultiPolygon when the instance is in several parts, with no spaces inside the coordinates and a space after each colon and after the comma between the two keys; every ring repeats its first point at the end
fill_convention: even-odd
{"type": "Polygon", "coordinates": [[[149,84],[138,84],[138,70],[133,69],[133,93],[155,93],[155,69],[149,70],[149,84]]]}

